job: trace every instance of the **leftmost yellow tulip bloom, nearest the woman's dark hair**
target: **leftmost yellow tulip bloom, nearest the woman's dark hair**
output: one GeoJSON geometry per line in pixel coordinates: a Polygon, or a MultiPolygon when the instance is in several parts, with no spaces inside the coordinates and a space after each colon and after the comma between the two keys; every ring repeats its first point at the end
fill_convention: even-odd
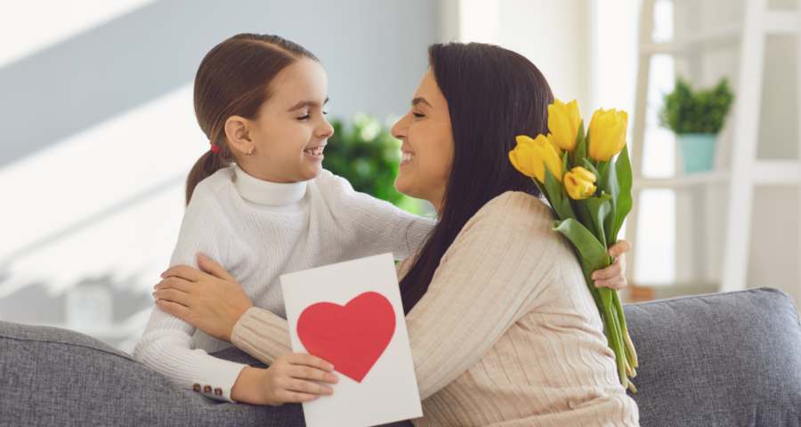
{"type": "Polygon", "coordinates": [[[562,159],[545,135],[532,140],[528,136],[517,137],[517,147],[509,151],[509,160],[518,171],[545,182],[545,168],[551,171],[556,181],[562,182],[562,159]]]}

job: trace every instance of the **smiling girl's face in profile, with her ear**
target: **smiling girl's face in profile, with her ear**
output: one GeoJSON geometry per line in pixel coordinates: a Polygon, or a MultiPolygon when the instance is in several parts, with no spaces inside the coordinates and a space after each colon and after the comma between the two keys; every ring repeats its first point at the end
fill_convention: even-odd
{"type": "Polygon", "coordinates": [[[312,180],[322,172],[322,151],[334,133],[323,112],[326,72],[316,60],[298,60],[281,70],[270,88],[271,98],[255,120],[234,116],[226,122],[228,139],[239,151],[237,163],[263,181],[312,180]]]}

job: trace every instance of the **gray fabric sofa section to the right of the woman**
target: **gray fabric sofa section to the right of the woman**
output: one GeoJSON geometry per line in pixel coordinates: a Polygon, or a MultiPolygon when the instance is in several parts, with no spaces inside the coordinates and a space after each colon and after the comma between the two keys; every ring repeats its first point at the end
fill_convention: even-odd
{"type": "Polygon", "coordinates": [[[763,287],[624,311],[641,425],[799,424],[801,324],[788,294],[763,287]]]}

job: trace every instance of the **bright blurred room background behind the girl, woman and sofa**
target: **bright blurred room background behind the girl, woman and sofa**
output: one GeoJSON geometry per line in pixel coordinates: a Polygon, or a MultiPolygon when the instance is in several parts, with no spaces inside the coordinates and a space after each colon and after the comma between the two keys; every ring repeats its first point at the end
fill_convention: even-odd
{"type": "Polygon", "coordinates": [[[192,108],[195,72],[215,44],[243,32],[284,36],[322,61],[336,122],[324,167],[426,215],[430,205],[392,188],[400,144],[388,134],[425,73],[426,46],[474,41],[520,52],[557,98],[578,99],[587,121],[602,107],[629,112],[627,301],[754,286],[801,301],[797,7],[0,0],[0,318],[134,349],[178,236],[184,180],[208,149],[192,108]],[[690,120],[687,102],[666,103],[676,77],[692,91],[728,80],[728,114],[690,93],[700,102],[693,119],[723,117],[719,132],[707,132],[711,154],[685,152],[685,131],[660,120],[690,120]],[[704,156],[707,166],[685,165],[704,156]]]}

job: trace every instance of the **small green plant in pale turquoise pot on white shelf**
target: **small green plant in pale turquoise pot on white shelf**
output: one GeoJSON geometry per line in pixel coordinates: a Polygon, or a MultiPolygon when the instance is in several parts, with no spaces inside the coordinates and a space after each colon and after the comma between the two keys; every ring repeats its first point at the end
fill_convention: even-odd
{"type": "Polygon", "coordinates": [[[659,124],[676,133],[682,147],[684,173],[712,170],[717,133],[733,100],[725,77],[715,87],[695,93],[682,77],[676,78],[676,89],[665,95],[659,124]]]}

